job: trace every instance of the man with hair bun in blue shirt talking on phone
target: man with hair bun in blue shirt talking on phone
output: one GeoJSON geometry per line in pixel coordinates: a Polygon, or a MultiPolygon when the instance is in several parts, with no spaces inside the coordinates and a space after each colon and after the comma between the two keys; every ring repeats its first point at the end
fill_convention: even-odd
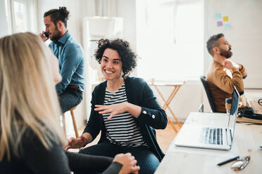
{"type": "Polygon", "coordinates": [[[40,34],[43,41],[51,39],[49,47],[58,58],[62,81],[56,85],[56,92],[63,113],[81,102],[85,87],[84,53],[68,32],[68,14],[66,7],[46,11],[46,29],[40,34]]]}

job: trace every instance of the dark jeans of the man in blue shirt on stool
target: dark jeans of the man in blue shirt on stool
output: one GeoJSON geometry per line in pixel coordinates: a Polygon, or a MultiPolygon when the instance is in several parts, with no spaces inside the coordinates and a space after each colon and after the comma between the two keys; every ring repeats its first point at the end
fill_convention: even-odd
{"type": "Polygon", "coordinates": [[[66,88],[58,95],[58,100],[62,109],[62,114],[77,106],[82,101],[82,93],[73,88],[66,88]]]}

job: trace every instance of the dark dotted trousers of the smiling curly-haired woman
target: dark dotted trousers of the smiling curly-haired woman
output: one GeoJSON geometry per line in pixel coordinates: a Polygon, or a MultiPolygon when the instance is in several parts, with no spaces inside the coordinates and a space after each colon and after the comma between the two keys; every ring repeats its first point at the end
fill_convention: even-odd
{"type": "Polygon", "coordinates": [[[137,159],[137,166],[140,166],[139,174],[152,174],[159,165],[158,158],[147,147],[123,147],[113,145],[109,142],[99,143],[80,150],[80,154],[91,154],[108,156],[113,158],[116,154],[130,152],[137,159]]]}

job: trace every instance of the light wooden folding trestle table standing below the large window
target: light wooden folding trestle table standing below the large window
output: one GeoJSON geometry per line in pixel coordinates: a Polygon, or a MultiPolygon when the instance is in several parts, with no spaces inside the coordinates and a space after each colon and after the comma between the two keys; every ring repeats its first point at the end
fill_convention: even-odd
{"type": "MultiPolygon", "coordinates": [[[[177,116],[175,116],[174,112],[172,109],[170,109],[169,107],[169,104],[170,102],[172,102],[173,98],[175,97],[175,94],[177,93],[177,91],[180,89],[180,87],[185,83],[185,81],[182,81],[182,82],[178,82],[178,83],[166,83],[166,82],[155,82],[154,80],[151,81],[151,83],[149,83],[150,86],[154,86],[154,88],[156,88],[156,91],[158,92],[158,94],[160,95],[161,99],[163,100],[164,104],[161,105],[161,102],[156,99],[156,101],[158,102],[158,104],[164,109],[169,109],[171,115],[173,116],[173,119],[175,119],[175,122],[177,123],[177,125],[181,128],[182,125],[181,123],[178,121],[177,119],[177,116]],[[158,86],[172,86],[174,87],[173,88],[173,91],[170,93],[169,97],[168,97],[168,100],[166,100],[161,91],[158,89],[158,86]]],[[[175,128],[175,125],[173,123],[173,120],[170,119],[169,116],[168,117],[168,122],[171,123],[171,126],[174,128],[175,132],[177,133],[177,128],[175,128]]]]}

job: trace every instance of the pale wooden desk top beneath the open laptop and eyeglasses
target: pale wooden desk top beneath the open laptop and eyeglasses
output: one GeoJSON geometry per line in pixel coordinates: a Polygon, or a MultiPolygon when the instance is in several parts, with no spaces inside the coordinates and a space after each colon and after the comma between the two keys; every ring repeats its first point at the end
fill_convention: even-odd
{"type": "MultiPolygon", "coordinates": [[[[227,116],[220,113],[191,112],[185,124],[203,124],[207,126],[223,125],[227,116]]],[[[183,128],[183,127],[182,127],[183,128]]],[[[262,126],[236,123],[235,137],[230,151],[215,149],[198,149],[176,147],[174,140],[166,156],[156,170],[156,174],[172,173],[262,173],[262,126]],[[232,162],[223,166],[217,163],[235,156],[251,156],[251,161],[244,170],[235,172],[231,169],[232,162]]]]}

